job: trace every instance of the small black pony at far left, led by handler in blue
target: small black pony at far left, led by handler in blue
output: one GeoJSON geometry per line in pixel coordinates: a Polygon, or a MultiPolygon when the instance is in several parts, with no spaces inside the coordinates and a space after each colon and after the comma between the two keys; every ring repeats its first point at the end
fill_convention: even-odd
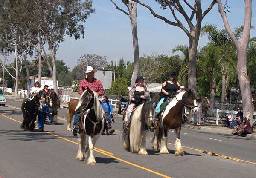
{"type": "Polygon", "coordinates": [[[29,99],[23,100],[21,104],[21,111],[23,113],[23,121],[20,126],[21,129],[33,131],[35,128],[35,120],[40,109],[40,99],[42,92],[34,93],[29,99]]]}

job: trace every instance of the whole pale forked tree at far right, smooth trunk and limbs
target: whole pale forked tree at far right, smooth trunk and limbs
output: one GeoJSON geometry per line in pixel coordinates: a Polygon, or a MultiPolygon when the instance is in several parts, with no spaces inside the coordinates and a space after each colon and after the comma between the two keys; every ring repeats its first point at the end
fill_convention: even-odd
{"type": "Polygon", "coordinates": [[[252,21],[252,0],[244,0],[244,29],[240,41],[230,29],[227,15],[224,11],[221,0],[217,0],[217,3],[218,11],[221,14],[224,27],[237,49],[237,75],[243,100],[244,115],[250,119],[251,123],[253,123],[252,92],[250,80],[247,74],[247,49],[249,46],[252,21]]]}

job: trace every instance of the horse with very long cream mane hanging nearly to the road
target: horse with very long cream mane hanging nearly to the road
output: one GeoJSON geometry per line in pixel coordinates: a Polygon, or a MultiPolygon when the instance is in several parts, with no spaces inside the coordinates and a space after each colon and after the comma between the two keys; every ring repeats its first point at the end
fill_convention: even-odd
{"type": "Polygon", "coordinates": [[[148,155],[146,138],[155,117],[154,106],[151,102],[144,103],[135,109],[130,123],[128,135],[123,137],[123,148],[139,155],[148,155]]]}

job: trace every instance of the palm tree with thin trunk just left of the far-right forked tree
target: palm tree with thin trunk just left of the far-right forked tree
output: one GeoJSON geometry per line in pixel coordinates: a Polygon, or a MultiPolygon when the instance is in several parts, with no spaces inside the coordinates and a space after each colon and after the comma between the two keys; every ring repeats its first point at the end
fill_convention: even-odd
{"type": "MultiPolygon", "coordinates": [[[[241,37],[243,32],[243,26],[238,26],[234,29],[234,34],[236,37],[241,37]]],[[[227,89],[227,78],[230,73],[233,73],[235,69],[234,61],[232,58],[233,52],[235,52],[235,46],[232,40],[227,34],[225,29],[219,30],[216,25],[206,24],[201,28],[201,34],[207,35],[210,42],[220,49],[221,57],[218,60],[221,66],[222,74],[222,86],[221,86],[221,102],[223,103],[221,109],[225,109],[225,95],[227,89]],[[229,67],[231,66],[231,68],[229,67]]]]}

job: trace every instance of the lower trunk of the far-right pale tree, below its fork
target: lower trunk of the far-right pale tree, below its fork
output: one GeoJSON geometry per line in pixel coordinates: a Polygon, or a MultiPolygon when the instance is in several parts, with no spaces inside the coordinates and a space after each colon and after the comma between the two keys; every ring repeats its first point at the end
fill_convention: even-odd
{"type": "Polygon", "coordinates": [[[243,101],[244,116],[253,123],[253,104],[250,80],[247,75],[247,49],[241,46],[238,50],[237,75],[243,101]]]}

